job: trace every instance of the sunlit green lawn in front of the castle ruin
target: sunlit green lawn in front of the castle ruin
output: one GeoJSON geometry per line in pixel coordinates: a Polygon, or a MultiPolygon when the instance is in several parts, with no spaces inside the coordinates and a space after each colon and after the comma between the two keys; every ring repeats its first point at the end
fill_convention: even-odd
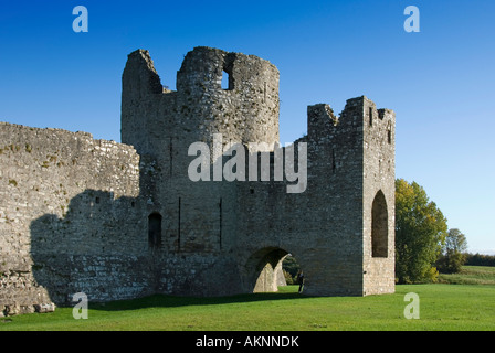
{"type": "MultiPolygon", "coordinates": [[[[494,275],[495,268],[465,267],[461,277],[489,282],[494,275]]],[[[393,295],[331,298],[298,295],[297,286],[222,298],[152,296],[89,303],[87,320],[75,320],[72,308],[2,318],[0,330],[495,330],[495,286],[403,285],[393,295]],[[420,298],[418,320],[403,315],[408,292],[420,298]]]]}

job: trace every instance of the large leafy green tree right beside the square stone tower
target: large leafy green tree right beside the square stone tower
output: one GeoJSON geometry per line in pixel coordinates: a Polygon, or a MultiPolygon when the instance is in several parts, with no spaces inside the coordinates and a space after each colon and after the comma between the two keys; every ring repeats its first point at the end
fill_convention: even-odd
{"type": "Polygon", "coordinates": [[[418,183],[396,180],[396,277],[400,284],[435,281],[446,218],[418,183]]]}

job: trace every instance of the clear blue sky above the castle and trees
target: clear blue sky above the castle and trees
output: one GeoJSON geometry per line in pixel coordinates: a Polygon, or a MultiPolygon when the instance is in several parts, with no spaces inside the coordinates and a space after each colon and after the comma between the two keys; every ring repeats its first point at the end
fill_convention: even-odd
{"type": "Polygon", "coordinates": [[[119,141],[128,53],[149,50],[170,88],[194,46],[254,54],[281,72],[282,142],[306,132],[307,105],[366,95],[397,114],[396,175],[470,250],[495,252],[494,15],[491,0],[2,1],[0,120],[119,141]],[[420,33],[403,30],[409,4],[420,33]]]}

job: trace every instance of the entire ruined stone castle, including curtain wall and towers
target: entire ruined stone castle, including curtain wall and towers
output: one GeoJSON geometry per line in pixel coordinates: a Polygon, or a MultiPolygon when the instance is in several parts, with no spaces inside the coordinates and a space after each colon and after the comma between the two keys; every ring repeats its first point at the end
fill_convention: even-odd
{"type": "Polygon", "coordinates": [[[338,117],[309,106],[307,135],[293,146],[297,165],[307,143],[302,193],[287,193],[286,179],[190,180],[198,141],[213,151],[211,172],[240,143],[273,175],[278,108],[278,71],[265,60],[196,47],[173,92],[138,50],[123,74],[122,143],[0,122],[0,315],[52,311],[76,292],[109,301],[273,291],[287,254],[308,295],[393,292],[392,110],[365,96],[338,117]]]}

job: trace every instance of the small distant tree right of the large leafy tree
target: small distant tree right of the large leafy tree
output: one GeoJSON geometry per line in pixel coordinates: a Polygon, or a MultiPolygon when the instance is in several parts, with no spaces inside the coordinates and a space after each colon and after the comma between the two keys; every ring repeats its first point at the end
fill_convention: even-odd
{"type": "Polygon", "coordinates": [[[457,228],[449,229],[442,253],[436,260],[436,266],[441,272],[455,274],[461,271],[466,261],[467,250],[466,236],[457,228]]]}

